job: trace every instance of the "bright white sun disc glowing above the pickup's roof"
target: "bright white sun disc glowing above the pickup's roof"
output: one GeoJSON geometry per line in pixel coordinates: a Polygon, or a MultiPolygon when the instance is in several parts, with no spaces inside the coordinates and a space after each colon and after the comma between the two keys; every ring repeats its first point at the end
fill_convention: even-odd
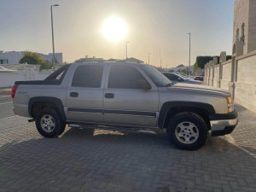
{"type": "Polygon", "coordinates": [[[110,17],[102,25],[102,34],[110,41],[119,41],[125,38],[127,26],[124,20],[118,17],[110,17]]]}

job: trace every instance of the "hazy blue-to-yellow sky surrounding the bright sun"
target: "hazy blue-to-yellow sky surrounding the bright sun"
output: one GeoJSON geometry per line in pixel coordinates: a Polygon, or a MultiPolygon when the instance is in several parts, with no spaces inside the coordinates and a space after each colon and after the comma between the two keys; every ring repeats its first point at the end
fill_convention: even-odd
{"type": "Polygon", "coordinates": [[[197,55],[231,54],[235,0],[0,0],[0,50],[52,52],[50,5],[55,52],[72,62],[85,55],[104,59],[128,57],[162,67],[189,64],[197,55]],[[125,38],[102,35],[109,17],[125,22],[125,38]]]}

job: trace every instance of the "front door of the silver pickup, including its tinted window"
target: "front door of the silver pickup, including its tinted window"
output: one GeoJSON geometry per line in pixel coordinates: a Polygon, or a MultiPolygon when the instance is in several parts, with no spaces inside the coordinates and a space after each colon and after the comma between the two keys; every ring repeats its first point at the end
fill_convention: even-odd
{"type": "Polygon", "coordinates": [[[104,90],[104,122],[113,125],[157,126],[159,92],[140,67],[113,64],[104,90]],[[148,84],[150,89],[143,89],[148,84]]]}

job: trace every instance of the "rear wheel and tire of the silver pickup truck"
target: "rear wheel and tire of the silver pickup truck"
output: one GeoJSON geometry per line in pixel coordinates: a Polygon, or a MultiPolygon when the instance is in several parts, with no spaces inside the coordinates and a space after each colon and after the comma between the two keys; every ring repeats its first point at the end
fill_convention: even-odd
{"type": "Polygon", "coordinates": [[[61,116],[59,113],[57,113],[55,110],[51,109],[42,109],[39,111],[37,118],[36,118],[36,126],[38,129],[38,132],[44,136],[44,137],[57,137],[60,135],[61,131],[63,132],[63,126],[65,123],[62,121],[61,116]],[[54,125],[46,125],[49,121],[49,124],[52,123],[54,125]],[[45,123],[45,126],[42,127],[41,123],[45,123]],[[46,131],[49,129],[48,131],[46,131]]]}

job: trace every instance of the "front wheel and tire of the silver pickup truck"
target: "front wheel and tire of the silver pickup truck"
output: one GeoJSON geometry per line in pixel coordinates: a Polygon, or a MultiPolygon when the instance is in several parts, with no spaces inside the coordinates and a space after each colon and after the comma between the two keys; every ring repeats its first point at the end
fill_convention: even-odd
{"type": "Polygon", "coordinates": [[[183,112],[177,113],[170,119],[166,134],[175,147],[184,150],[196,150],[201,148],[207,142],[208,129],[206,122],[200,115],[192,112],[183,112]],[[182,126],[182,128],[180,126],[182,126]],[[188,126],[188,128],[186,128],[186,126],[188,126]],[[191,126],[193,126],[193,128],[189,129],[191,126]],[[178,134],[181,134],[182,136],[180,137],[178,134]],[[195,134],[195,137],[190,137],[189,134],[195,134]],[[186,140],[186,137],[188,137],[187,139],[189,141],[186,140]]]}

